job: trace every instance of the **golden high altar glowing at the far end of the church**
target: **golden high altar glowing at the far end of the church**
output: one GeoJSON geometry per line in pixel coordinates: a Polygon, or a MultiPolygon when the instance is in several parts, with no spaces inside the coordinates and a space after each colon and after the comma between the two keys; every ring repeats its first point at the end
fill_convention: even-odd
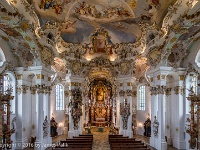
{"type": "Polygon", "coordinates": [[[89,123],[106,126],[112,120],[112,87],[106,81],[94,81],[89,91],[89,123]]]}

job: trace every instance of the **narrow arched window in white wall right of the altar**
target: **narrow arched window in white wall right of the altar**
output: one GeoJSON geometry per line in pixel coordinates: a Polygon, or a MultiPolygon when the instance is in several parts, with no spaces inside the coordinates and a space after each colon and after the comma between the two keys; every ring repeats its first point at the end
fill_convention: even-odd
{"type": "Polygon", "coordinates": [[[138,110],[145,110],[145,85],[139,87],[138,110]]]}

